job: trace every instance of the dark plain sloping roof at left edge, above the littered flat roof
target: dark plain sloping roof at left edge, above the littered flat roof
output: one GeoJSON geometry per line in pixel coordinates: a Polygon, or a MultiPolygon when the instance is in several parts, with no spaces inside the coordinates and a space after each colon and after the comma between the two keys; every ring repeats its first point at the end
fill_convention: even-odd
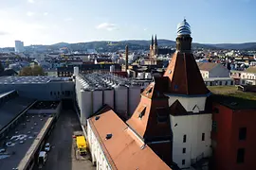
{"type": "Polygon", "coordinates": [[[17,96],[2,104],[0,106],[0,130],[6,127],[23,110],[26,110],[34,101],[33,99],[17,96]]]}

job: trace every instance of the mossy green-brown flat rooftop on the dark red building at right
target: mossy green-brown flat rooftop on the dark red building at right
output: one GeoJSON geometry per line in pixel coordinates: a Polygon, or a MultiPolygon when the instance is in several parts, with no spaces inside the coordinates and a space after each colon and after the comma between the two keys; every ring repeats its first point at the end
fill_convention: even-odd
{"type": "Polygon", "coordinates": [[[212,99],[233,110],[256,109],[256,93],[238,91],[236,86],[209,86],[212,99]]]}

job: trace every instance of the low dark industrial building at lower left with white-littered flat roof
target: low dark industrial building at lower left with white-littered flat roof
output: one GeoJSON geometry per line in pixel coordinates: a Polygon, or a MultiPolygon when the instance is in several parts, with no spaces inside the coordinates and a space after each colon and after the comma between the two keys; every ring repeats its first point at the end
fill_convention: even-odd
{"type": "Polygon", "coordinates": [[[36,101],[19,96],[17,91],[0,96],[0,169],[32,169],[62,102],[36,101]]]}

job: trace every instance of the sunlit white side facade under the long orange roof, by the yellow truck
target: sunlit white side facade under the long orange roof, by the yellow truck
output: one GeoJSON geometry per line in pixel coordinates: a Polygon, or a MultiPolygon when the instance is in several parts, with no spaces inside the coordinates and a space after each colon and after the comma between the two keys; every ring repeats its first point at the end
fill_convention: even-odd
{"type": "Polygon", "coordinates": [[[89,123],[87,126],[87,142],[89,143],[92,162],[96,165],[96,169],[97,170],[112,169],[111,165],[108,163],[104,155],[104,152],[101,148],[101,144],[99,143],[89,123]]]}

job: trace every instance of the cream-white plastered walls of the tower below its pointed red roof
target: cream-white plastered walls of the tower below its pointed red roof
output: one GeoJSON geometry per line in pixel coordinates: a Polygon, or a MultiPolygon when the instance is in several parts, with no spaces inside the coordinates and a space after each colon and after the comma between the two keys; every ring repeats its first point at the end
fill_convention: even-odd
{"type": "Polygon", "coordinates": [[[189,113],[170,115],[173,130],[173,158],[180,168],[192,168],[192,164],[211,155],[211,113],[205,111],[206,96],[169,96],[169,106],[176,100],[189,113]]]}

